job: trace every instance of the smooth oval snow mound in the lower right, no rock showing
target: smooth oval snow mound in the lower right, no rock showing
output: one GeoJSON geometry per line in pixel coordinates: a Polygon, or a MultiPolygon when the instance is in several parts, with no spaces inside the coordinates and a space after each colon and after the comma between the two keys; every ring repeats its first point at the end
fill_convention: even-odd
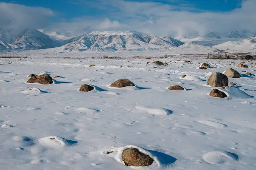
{"type": "Polygon", "coordinates": [[[212,151],[204,154],[202,159],[209,164],[224,164],[227,161],[239,161],[239,156],[225,151],[212,151]]]}

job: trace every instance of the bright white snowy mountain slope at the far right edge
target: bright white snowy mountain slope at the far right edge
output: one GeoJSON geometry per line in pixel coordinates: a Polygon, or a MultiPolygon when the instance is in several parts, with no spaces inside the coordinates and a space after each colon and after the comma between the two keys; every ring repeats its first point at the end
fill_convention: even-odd
{"type": "Polygon", "coordinates": [[[256,36],[242,41],[228,41],[213,46],[227,52],[256,52],[256,36]]]}

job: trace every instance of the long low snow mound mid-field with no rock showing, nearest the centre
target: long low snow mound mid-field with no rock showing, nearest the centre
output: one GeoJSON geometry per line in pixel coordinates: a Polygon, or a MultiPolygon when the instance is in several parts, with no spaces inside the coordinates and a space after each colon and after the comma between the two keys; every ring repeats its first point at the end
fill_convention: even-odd
{"type": "Polygon", "coordinates": [[[169,115],[172,114],[172,111],[166,108],[159,108],[159,107],[153,107],[153,106],[136,106],[140,111],[145,111],[148,114],[154,114],[154,115],[169,115]]]}

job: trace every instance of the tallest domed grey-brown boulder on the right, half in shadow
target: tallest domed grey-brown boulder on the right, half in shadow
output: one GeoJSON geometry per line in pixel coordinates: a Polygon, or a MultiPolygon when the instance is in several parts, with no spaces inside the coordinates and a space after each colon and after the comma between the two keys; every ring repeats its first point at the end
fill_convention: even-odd
{"type": "Polygon", "coordinates": [[[222,73],[213,73],[208,81],[207,85],[210,85],[212,87],[222,87],[228,85],[228,78],[226,75],[222,73]]]}

